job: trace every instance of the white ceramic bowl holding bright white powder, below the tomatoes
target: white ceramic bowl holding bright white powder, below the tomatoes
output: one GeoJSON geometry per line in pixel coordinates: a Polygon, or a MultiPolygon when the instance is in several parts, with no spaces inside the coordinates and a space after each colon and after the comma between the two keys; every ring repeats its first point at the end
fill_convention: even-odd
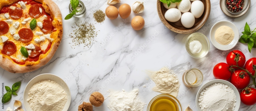
{"type": "Polygon", "coordinates": [[[228,81],[226,81],[226,80],[220,80],[220,79],[211,80],[211,81],[205,83],[205,84],[198,90],[198,92],[197,92],[197,94],[196,94],[196,108],[197,108],[197,110],[198,110],[198,111],[201,110],[200,107],[199,107],[199,105],[198,105],[199,94],[200,94],[206,87],[208,87],[208,86],[210,86],[210,85],[212,85],[212,84],[214,84],[214,83],[223,83],[223,84],[226,84],[226,85],[228,85],[229,87],[231,87],[231,88],[234,90],[234,92],[235,92],[235,94],[236,94],[236,98],[237,98],[237,102],[236,102],[236,106],[235,106],[234,111],[238,111],[238,109],[239,109],[239,107],[240,107],[240,102],[241,102],[241,100],[240,100],[240,93],[238,92],[237,88],[236,88],[233,84],[231,84],[230,82],[228,82],[228,81]]]}

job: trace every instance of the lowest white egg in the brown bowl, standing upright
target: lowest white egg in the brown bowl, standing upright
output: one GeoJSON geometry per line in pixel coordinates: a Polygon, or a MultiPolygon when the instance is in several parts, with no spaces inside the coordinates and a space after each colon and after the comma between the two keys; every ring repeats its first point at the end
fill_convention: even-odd
{"type": "Polygon", "coordinates": [[[180,20],[181,24],[186,28],[191,28],[195,24],[195,17],[190,12],[183,13],[180,20]]]}

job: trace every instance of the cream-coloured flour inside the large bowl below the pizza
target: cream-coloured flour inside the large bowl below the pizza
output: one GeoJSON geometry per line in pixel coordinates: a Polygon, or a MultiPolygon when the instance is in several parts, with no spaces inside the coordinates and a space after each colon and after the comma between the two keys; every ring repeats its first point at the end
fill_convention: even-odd
{"type": "Polygon", "coordinates": [[[43,80],[30,87],[27,102],[33,111],[60,111],[67,102],[67,93],[55,81],[43,80]]]}

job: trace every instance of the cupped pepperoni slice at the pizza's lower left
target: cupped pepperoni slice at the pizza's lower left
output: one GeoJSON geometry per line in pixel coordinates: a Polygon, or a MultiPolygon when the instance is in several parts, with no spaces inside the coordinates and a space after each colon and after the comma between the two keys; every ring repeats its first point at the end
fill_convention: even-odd
{"type": "Polygon", "coordinates": [[[4,43],[3,52],[6,55],[8,56],[13,55],[16,51],[17,51],[16,45],[12,41],[7,41],[4,43]]]}

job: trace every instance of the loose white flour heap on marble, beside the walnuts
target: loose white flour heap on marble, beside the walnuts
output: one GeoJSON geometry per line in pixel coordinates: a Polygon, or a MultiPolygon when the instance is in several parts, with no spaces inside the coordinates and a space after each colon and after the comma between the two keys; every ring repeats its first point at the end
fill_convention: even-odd
{"type": "Polygon", "coordinates": [[[138,97],[139,89],[133,89],[131,92],[109,90],[109,104],[111,111],[143,111],[145,102],[138,97]]]}

